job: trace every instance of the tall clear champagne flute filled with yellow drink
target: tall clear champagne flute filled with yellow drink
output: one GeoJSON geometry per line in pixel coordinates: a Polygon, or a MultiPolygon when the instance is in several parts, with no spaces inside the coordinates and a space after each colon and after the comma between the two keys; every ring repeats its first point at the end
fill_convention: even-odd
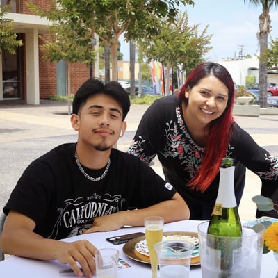
{"type": "Polygon", "coordinates": [[[145,234],[151,261],[152,278],[157,277],[158,261],[154,245],[162,240],[164,220],[160,216],[149,216],[145,218],[145,234]]]}

